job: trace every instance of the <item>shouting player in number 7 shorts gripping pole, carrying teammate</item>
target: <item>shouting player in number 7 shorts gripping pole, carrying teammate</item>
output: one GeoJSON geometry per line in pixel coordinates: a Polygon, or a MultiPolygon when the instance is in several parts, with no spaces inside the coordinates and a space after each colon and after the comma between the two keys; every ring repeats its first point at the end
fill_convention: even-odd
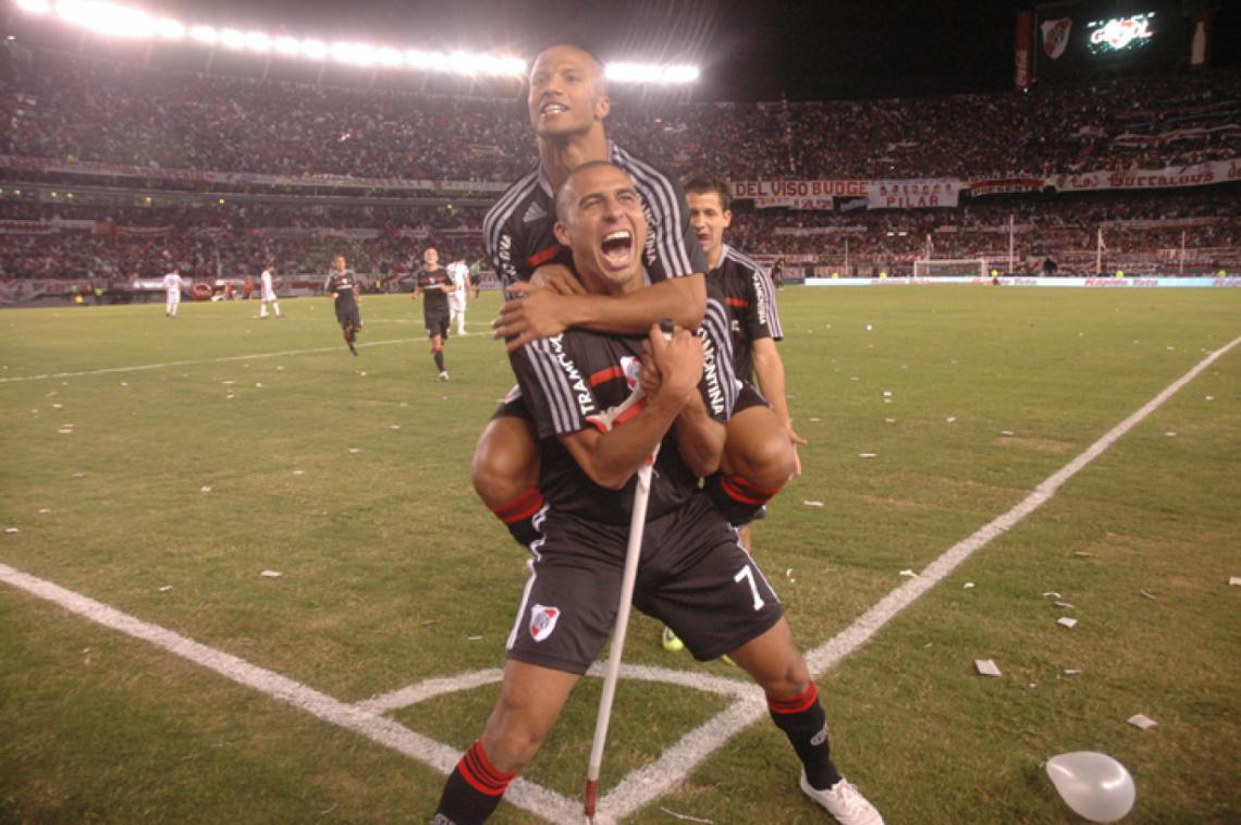
{"type": "MultiPolygon", "coordinates": [[[[583,164],[561,186],[556,234],[596,294],[642,288],[647,221],[623,169],[583,164]]],[[[830,759],[828,728],[779,599],[697,479],[720,463],[722,418],[704,344],[571,329],[522,346],[514,370],[540,435],[547,493],[531,578],[508,640],[500,697],[483,736],[444,784],[436,823],[474,825],[534,758],[616,619],[634,474],[658,447],[634,605],[699,659],[728,653],[767,693],[802,760],[802,789],[839,821],[882,823],[830,759]],[[645,403],[617,416],[642,370],[645,403]],[[637,411],[634,413],[634,411],[637,411]]]]}

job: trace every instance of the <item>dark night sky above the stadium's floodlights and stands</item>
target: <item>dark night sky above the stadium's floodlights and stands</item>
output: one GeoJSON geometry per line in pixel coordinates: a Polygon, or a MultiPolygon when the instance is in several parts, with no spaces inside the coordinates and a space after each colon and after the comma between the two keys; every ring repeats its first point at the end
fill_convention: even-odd
{"type": "MultiPolygon", "coordinates": [[[[1018,10],[1034,0],[154,0],[217,25],[532,56],[557,40],[604,60],[694,62],[699,99],[874,98],[1011,88],[1018,10]]],[[[1214,56],[1236,61],[1222,2],[1214,56]]]]}

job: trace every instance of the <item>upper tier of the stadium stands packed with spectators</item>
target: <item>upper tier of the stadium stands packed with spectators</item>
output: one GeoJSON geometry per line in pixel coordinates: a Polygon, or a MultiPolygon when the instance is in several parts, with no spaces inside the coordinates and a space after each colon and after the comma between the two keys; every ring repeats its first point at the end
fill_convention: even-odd
{"type": "MultiPolygon", "coordinates": [[[[172,73],[10,47],[0,154],[163,170],[510,181],[535,160],[513,99],[172,73]]],[[[617,102],[611,135],[733,180],[1011,177],[1236,159],[1241,71],[1026,94],[617,102]]]]}

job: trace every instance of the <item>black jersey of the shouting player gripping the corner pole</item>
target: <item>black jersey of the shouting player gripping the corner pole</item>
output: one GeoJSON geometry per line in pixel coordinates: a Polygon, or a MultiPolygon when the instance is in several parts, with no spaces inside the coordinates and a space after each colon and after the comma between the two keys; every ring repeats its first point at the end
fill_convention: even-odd
{"type": "MultiPolygon", "coordinates": [[[[732,414],[737,392],[731,363],[726,357],[715,357],[715,341],[726,335],[725,329],[722,319],[709,310],[700,332],[707,359],[699,392],[717,421],[732,414]]],[[[637,480],[630,479],[619,491],[594,484],[556,437],[597,427],[592,418],[629,397],[643,340],[571,329],[532,341],[510,356],[540,439],[539,489],[557,512],[602,524],[629,524],[637,480]]],[[[671,512],[697,489],[697,476],[681,459],[669,430],[652,474],[647,519],[671,512]]]]}

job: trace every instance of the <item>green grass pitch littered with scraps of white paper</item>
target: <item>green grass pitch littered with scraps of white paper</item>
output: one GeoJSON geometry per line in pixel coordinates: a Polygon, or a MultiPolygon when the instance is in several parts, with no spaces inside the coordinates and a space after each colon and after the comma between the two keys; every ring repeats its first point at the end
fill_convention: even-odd
{"type": "MultiPolygon", "coordinates": [[[[1225,289],[779,300],[810,444],[755,548],[808,650],[1241,335],[1241,290],[1225,289]]],[[[325,299],[287,300],[280,321],[253,301],[176,320],[156,304],[0,313],[0,524],[19,531],[0,564],[343,703],[501,666],[525,555],[469,484],[511,385],[484,334],[496,306],[484,295],[449,341],[447,383],[407,297],[364,299],[356,359],[325,299]]],[[[1127,821],[1241,821],[1239,468],[1241,347],[817,679],[834,756],[889,823],[1081,821],[1041,767],[1080,749],[1133,773],[1127,821]]],[[[0,584],[0,821],[433,814],[443,775],[422,762],[0,584]]],[[[640,617],[625,659],[740,679],[663,651],[640,617]]],[[[598,687],[583,681],[529,779],[576,798],[598,687]]],[[[388,718],[464,749],[495,692],[388,718]]],[[[602,784],[730,702],[622,682],[602,784]]],[[[825,821],[766,722],[625,821],[674,814],[825,821]]],[[[503,805],[493,821],[541,820],[503,805]]]]}

